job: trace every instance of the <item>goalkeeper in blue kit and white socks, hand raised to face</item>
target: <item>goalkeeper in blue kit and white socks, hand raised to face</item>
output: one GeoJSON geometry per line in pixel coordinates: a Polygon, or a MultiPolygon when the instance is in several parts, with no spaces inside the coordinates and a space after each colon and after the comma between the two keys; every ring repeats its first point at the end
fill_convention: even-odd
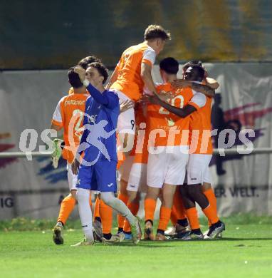
{"type": "MultiPolygon", "coordinates": [[[[75,72],[79,74],[80,81],[83,82],[92,96],[86,101],[85,130],[72,164],[73,173],[78,173],[78,210],[85,235],[85,240],[75,245],[91,245],[94,242],[92,211],[88,205],[90,190],[100,192],[100,199],[106,205],[117,210],[129,220],[132,227],[132,240],[137,244],[141,238],[140,222],[137,217],[132,215],[127,206],[114,195],[117,190],[115,128],[120,112],[119,98],[117,94],[105,90],[103,86],[108,78],[108,70],[102,63],[91,63],[87,71],[77,67],[75,72]],[[79,161],[79,153],[83,153],[83,151],[83,159],[79,161]]],[[[122,241],[124,235],[119,235],[119,237],[122,241]]]]}

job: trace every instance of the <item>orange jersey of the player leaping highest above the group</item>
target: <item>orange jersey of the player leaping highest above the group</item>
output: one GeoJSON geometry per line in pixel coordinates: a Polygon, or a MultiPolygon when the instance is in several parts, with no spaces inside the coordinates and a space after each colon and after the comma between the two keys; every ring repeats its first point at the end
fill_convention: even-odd
{"type": "Polygon", "coordinates": [[[142,95],[144,81],[141,77],[141,64],[152,66],[155,63],[156,53],[147,43],[127,48],[117,63],[117,81],[110,87],[124,93],[132,101],[137,101],[142,95]]]}

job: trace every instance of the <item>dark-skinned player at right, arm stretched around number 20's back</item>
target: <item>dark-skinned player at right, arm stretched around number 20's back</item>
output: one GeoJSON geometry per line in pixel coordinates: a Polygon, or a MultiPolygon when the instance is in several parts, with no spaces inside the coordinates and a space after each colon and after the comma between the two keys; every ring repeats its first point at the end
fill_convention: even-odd
{"type": "MultiPolygon", "coordinates": [[[[189,66],[184,74],[186,81],[197,81],[202,83],[204,78],[204,68],[199,65],[189,66]]],[[[225,225],[221,222],[216,214],[216,211],[211,207],[209,200],[202,191],[203,182],[206,181],[207,173],[209,175],[209,162],[211,160],[211,99],[206,98],[202,93],[195,93],[193,98],[184,108],[177,108],[168,103],[164,103],[157,96],[150,97],[153,102],[162,105],[171,113],[178,115],[180,118],[185,118],[191,115],[190,124],[193,123],[194,130],[190,143],[189,162],[187,165],[187,184],[182,186],[182,199],[184,207],[187,210],[187,216],[190,222],[192,231],[184,239],[203,239],[204,236],[200,227],[196,227],[192,219],[192,211],[195,211],[195,203],[197,202],[204,215],[211,222],[211,227],[208,232],[210,238],[214,238],[219,233],[223,232],[225,225]],[[194,132],[196,131],[196,132],[194,132]],[[197,133],[197,134],[196,134],[197,133]]]]}

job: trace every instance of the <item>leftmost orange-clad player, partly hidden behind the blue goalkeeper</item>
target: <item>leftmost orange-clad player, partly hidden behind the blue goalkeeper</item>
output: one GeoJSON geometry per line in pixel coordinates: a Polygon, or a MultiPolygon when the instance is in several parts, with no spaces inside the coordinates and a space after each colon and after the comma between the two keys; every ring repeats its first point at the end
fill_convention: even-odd
{"type": "Polygon", "coordinates": [[[53,113],[53,119],[51,123],[51,129],[63,129],[64,143],[67,147],[63,149],[63,158],[67,160],[68,184],[70,189],[70,194],[66,196],[61,202],[61,210],[58,215],[56,226],[53,230],[53,241],[56,244],[63,244],[61,231],[63,229],[63,225],[66,224],[66,220],[75,207],[75,185],[77,176],[73,175],[71,170],[71,163],[73,162],[74,157],[73,152],[68,148],[76,149],[80,143],[85,101],[87,100],[88,96],[90,96],[88,91],[86,91],[85,86],[83,86],[83,83],[80,82],[78,74],[75,73],[74,68],[69,69],[68,80],[73,88],[73,93],[70,93],[69,96],[64,96],[58,102],[56,110],[53,113]],[[75,120],[74,125],[70,125],[72,120],[75,120]],[[73,142],[69,140],[69,135],[72,135],[73,142]]]}

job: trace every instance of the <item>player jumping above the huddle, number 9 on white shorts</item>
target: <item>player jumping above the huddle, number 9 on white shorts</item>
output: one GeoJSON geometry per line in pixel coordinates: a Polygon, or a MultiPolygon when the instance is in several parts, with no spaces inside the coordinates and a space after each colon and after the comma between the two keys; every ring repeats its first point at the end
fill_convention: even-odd
{"type": "MultiPolygon", "coordinates": [[[[169,40],[170,34],[162,26],[150,25],[145,30],[145,41],[127,48],[117,63],[113,75],[110,77],[108,87],[114,90],[122,101],[138,101],[144,86],[150,93],[156,93],[152,80],[151,70],[156,55],[163,50],[164,44],[169,40]]],[[[127,157],[134,145],[135,138],[135,110],[131,108],[120,113],[117,123],[117,132],[122,145],[121,151],[127,157]]],[[[128,197],[120,190],[118,198],[127,203],[128,197]]],[[[119,226],[119,224],[118,224],[119,226]]]]}

